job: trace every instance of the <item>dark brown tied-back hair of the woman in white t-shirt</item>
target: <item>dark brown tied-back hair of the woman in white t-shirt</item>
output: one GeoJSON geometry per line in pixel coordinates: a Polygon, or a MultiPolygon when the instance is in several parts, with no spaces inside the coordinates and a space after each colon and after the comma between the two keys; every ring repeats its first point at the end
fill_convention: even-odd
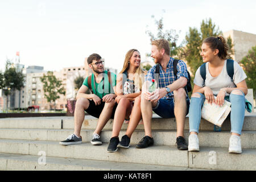
{"type": "Polygon", "coordinates": [[[220,59],[227,59],[229,56],[229,46],[226,43],[224,36],[219,35],[217,38],[210,36],[209,38],[204,39],[203,43],[207,43],[212,50],[218,49],[218,57],[220,57],[220,59]]]}

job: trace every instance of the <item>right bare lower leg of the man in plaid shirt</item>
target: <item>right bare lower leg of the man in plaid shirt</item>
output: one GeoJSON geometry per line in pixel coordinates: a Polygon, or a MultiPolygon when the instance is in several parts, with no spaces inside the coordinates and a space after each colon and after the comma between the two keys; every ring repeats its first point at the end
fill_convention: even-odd
{"type": "Polygon", "coordinates": [[[184,88],[174,90],[174,114],[177,122],[176,137],[184,137],[185,117],[187,113],[186,92],[184,88]]]}

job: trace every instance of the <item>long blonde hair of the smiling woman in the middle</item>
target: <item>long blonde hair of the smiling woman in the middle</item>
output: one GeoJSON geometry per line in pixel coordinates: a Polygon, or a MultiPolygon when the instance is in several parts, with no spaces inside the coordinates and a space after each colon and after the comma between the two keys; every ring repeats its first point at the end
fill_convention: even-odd
{"type": "MultiPolygon", "coordinates": [[[[130,49],[126,55],[125,55],[125,62],[123,63],[123,69],[120,73],[124,73],[127,71],[130,67],[129,61],[131,59],[131,56],[133,56],[134,52],[139,52],[137,49],[130,49]]],[[[135,71],[135,77],[134,77],[134,85],[139,88],[139,90],[142,90],[142,84],[144,81],[144,69],[141,68],[141,65],[136,69],[135,71]]]]}

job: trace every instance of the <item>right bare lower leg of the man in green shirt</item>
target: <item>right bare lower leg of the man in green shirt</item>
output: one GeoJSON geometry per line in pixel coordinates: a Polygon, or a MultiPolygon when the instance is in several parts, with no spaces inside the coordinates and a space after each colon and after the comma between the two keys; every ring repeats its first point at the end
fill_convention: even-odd
{"type": "Polygon", "coordinates": [[[115,105],[114,100],[112,100],[111,102],[105,102],[104,108],[101,111],[100,117],[98,118],[98,123],[93,134],[97,133],[98,135],[100,135],[101,130],[104,128],[106,123],[111,118],[114,105],[115,105]]]}

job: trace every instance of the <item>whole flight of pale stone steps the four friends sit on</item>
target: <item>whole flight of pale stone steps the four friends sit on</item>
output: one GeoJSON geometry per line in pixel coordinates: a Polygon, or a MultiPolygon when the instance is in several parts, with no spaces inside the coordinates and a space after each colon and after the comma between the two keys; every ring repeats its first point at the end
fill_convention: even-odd
{"type": "MultiPolygon", "coordinates": [[[[256,170],[256,115],[246,115],[241,135],[242,154],[229,154],[230,120],[221,132],[204,119],[200,124],[200,152],[179,151],[176,143],[175,118],[153,115],[154,146],[138,149],[135,144],[144,137],[139,125],[131,137],[131,147],[109,153],[113,120],[101,133],[102,146],[90,144],[97,118],[85,116],[82,144],[61,146],[73,133],[73,117],[31,117],[0,119],[0,170],[256,170]]],[[[125,134],[123,123],[119,138],[125,134]]],[[[188,143],[189,123],[185,120],[188,143]]]]}

